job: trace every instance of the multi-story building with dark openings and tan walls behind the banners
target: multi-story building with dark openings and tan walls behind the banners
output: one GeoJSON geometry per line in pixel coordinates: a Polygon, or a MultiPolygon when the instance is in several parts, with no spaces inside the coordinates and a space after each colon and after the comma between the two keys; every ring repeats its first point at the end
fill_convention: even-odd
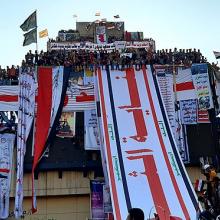
{"type": "MultiPolygon", "coordinates": [[[[104,27],[107,43],[114,41],[142,41],[141,32],[125,32],[124,22],[77,22],[76,30],[61,30],[56,41],[48,42],[48,50],[53,43],[69,45],[90,41],[97,43],[97,28],[104,27]]],[[[155,49],[152,39],[145,39],[155,49]]],[[[60,48],[59,48],[60,49],[60,48]]],[[[76,134],[74,138],[56,137],[38,166],[35,181],[38,212],[31,215],[31,169],[33,161],[32,141],[28,140],[24,163],[24,219],[30,220],[86,220],[91,218],[90,181],[103,180],[103,170],[99,151],[84,149],[84,113],[76,113],[76,134]]],[[[187,129],[191,159],[199,157],[199,151],[208,156],[215,154],[212,136],[212,124],[192,125],[187,129]],[[198,132],[199,130],[199,132],[198,132]],[[196,146],[196,147],[191,147],[196,146]],[[198,147],[200,150],[198,150],[198,147]]],[[[196,160],[195,160],[196,161],[196,160]]],[[[192,163],[193,164],[193,163],[192,163]]],[[[197,165],[197,164],[196,164],[197,165]]],[[[187,171],[194,182],[200,176],[198,167],[188,167],[187,171]]],[[[12,186],[15,186],[15,175],[12,175],[12,186]]],[[[10,217],[14,219],[14,195],[11,190],[10,217]]]]}

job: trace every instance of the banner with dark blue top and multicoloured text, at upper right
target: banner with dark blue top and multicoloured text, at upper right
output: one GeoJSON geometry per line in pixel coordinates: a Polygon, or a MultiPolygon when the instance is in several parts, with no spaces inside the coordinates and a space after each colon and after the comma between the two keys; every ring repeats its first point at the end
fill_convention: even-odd
{"type": "Polygon", "coordinates": [[[213,100],[206,63],[192,64],[192,77],[196,89],[199,110],[213,108],[213,100]]]}

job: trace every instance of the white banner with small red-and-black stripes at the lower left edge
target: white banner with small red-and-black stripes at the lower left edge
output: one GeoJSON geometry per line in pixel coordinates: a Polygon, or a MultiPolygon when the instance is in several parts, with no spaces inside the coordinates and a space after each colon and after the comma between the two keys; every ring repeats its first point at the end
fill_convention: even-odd
{"type": "Polygon", "coordinates": [[[9,198],[11,186],[14,134],[0,134],[0,218],[9,215],[9,198]]]}

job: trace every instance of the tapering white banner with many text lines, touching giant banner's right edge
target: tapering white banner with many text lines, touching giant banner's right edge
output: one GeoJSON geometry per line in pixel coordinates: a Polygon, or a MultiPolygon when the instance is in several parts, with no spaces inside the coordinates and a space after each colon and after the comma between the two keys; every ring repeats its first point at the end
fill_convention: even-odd
{"type": "Polygon", "coordinates": [[[173,73],[172,70],[162,65],[154,65],[157,76],[160,93],[166,108],[167,116],[172,128],[174,137],[176,136],[176,119],[175,119],[175,97],[173,91],[173,73]]]}

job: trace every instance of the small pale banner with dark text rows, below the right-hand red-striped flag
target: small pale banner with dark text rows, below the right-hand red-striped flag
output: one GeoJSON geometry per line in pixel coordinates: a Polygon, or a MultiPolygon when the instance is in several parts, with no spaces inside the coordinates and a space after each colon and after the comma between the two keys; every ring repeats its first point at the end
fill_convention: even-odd
{"type": "Polygon", "coordinates": [[[180,101],[181,123],[191,125],[197,123],[197,100],[189,99],[180,101]]]}

